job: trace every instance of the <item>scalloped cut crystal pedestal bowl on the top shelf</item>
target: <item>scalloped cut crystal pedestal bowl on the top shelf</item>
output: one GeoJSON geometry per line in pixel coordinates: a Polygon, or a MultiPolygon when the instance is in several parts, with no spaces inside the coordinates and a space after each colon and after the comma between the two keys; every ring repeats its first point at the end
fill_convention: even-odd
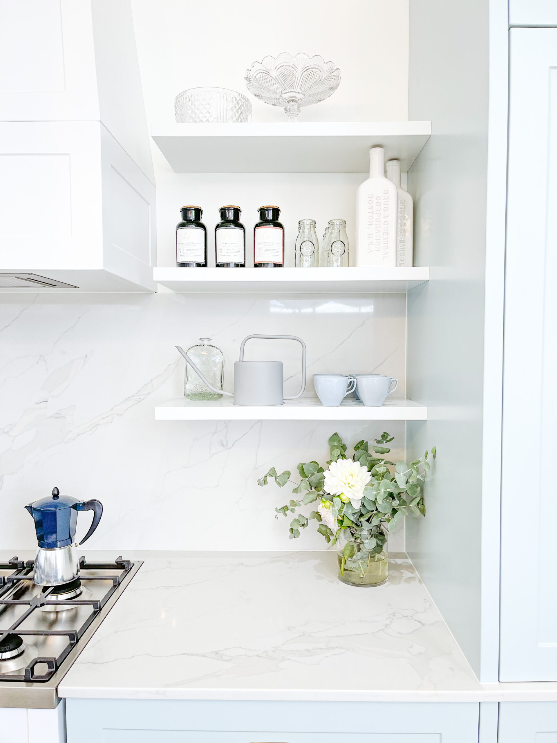
{"type": "Polygon", "coordinates": [[[300,108],[320,103],[336,91],[340,70],[322,56],[296,56],[283,52],[277,57],[266,56],[253,62],[246,71],[247,89],[270,106],[286,106],[284,113],[297,121],[300,108]]]}

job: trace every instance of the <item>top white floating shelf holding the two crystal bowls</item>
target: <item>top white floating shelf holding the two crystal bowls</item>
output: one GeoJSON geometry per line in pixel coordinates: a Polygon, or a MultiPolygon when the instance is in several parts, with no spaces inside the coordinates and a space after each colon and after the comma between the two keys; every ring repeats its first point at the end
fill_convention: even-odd
{"type": "Polygon", "coordinates": [[[151,135],[177,173],[364,173],[377,145],[406,172],[431,122],[170,123],[151,135]]]}

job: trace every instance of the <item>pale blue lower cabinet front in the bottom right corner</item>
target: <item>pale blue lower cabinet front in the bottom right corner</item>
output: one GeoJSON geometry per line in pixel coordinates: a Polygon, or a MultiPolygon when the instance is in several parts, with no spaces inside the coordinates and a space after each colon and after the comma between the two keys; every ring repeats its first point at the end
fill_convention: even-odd
{"type": "Polygon", "coordinates": [[[498,743],[557,743],[557,702],[501,702],[498,743]]]}

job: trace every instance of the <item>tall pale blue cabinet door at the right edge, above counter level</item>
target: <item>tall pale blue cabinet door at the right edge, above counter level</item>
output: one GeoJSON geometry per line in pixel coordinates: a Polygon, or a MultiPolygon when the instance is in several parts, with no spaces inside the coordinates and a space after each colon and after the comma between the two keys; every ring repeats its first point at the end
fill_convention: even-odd
{"type": "Polygon", "coordinates": [[[557,29],[510,30],[501,681],[557,681],[557,29]]]}

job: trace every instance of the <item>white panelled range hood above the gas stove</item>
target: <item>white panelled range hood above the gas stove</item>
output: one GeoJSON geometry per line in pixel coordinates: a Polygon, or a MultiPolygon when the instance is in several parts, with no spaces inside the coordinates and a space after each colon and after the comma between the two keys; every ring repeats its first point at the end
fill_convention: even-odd
{"type": "Polygon", "coordinates": [[[0,288],[154,291],[129,0],[0,0],[0,156],[0,288]]]}

